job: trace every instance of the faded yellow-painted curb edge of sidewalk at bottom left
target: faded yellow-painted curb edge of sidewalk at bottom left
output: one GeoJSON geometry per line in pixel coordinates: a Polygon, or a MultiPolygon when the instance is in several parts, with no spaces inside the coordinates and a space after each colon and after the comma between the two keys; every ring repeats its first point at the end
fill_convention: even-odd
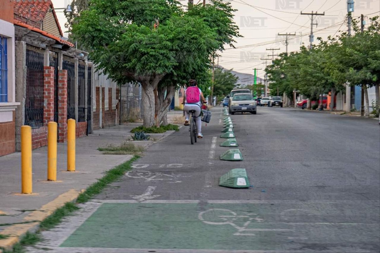
{"type": "Polygon", "coordinates": [[[8,235],[9,237],[0,240],[0,253],[2,253],[3,250],[12,250],[13,246],[17,244],[27,232],[36,232],[40,227],[41,221],[49,217],[55,212],[55,210],[65,205],[65,203],[76,201],[79,194],[84,191],[84,189],[71,189],[60,194],[53,201],[41,206],[40,209],[33,211],[22,220],[23,222],[28,223],[11,225],[2,230],[0,234],[8,235]]]}

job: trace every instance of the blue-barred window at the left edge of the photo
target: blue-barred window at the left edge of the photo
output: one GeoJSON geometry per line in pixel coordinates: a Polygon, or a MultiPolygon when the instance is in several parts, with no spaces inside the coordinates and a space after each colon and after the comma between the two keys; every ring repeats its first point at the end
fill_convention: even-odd
{"type": "Polygon", "coordinates": [[[0,102],[8,102],[7,38],[0,36],[0,102]]]}

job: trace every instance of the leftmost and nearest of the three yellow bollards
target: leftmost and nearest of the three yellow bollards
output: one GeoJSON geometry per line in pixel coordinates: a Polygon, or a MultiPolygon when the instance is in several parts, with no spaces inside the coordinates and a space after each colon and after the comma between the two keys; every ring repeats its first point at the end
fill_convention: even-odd
{"type": "Polygon", "coordinates": [[[21,126],[21,193],[32,193],[32,128],[21,126]]]}

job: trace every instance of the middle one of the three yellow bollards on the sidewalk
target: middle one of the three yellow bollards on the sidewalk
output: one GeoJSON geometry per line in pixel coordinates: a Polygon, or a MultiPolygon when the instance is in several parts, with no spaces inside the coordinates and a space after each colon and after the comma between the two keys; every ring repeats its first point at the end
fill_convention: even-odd
{"type": "Polygon", "coordinates": [[[57,123],[47,123],[47,180],[57,180],[57,123]]]}

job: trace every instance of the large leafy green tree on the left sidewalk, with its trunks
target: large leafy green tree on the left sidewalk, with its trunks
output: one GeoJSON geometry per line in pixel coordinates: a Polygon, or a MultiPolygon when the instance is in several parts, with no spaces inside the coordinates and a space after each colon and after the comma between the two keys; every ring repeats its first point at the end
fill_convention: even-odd
{"type": "Polygon", "coordinates": [[[212,3],[184,12],[174,0],[92,0],[71,32],[109,77],[141,84],[144,126],[160,125],[174,90],[205,76],[209,55],[237,34],[230,4],[212,3]]]}

